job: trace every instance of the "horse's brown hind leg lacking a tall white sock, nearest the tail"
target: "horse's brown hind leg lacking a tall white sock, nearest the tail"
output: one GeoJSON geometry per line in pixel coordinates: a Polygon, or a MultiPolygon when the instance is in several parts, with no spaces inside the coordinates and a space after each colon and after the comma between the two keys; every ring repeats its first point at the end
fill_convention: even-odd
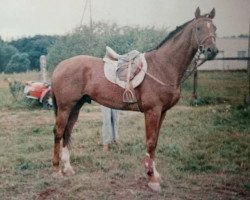
{"type": "Polygon", "coordinates": [[[59,167],[60,157],[60,142],[63,137],[65,128],[68,123],[70,109],[58,109],[56,116],[56,124],[54,127],[54,158],[53,158],[53,176],[61,177],[62,172],[59,167]]]}

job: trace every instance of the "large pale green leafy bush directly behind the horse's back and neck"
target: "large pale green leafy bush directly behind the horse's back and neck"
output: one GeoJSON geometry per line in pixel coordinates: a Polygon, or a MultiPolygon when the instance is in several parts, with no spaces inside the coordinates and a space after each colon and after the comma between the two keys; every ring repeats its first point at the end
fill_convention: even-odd
{"type": "Polygon", "coordinates": [[[49,48],[48,66],[53,70],[60,61],[81,54],[103,57],[105,46],[120,54],[133,49],[144,52],[156,46],[164,34],[165,29],[156,30],[154,27],[119,27],[105,23],[96,23],[92,28],[81,26],[59,38],[49,48]]]}

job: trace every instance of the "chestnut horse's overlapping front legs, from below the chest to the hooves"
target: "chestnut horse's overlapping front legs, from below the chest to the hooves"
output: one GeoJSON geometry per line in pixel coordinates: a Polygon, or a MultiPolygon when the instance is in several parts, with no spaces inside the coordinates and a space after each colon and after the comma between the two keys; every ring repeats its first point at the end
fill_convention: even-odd
{"type": "Polygon", "coordinates": [[[154,158],[159,130],[165,115],[166,112],[162,112],[161,107],[154,108],[145,113],[147,153],[144,165],[149,178],[148,186],[154,191],[161,191],[160,175],[156,170],[154,158]]]}

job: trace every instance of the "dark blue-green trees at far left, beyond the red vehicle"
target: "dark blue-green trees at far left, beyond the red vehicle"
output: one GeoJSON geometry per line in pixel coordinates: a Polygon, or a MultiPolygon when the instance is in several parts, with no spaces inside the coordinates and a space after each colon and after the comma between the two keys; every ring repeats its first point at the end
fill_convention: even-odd
{"type": "Polygon", "coordinates": [[[36,35],[10,42],[0,39],[0,72],[39,70],[39,58],[48,53],[58,36],[36,35]]]}

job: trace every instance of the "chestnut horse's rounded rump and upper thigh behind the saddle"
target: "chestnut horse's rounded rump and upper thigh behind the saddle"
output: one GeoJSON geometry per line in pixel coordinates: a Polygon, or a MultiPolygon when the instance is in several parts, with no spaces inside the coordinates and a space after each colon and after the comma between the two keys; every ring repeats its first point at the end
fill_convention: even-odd
{"type": "MultiPolygon", "coordinates": [[[[103,68],[101,58],[80,55],[60,62],[52,75],[52,92],[57,101],[77,101],[81,98],[89,77],[103,68]]],[[[60,103],[60,102],[59,102],[60,103]]]]}

